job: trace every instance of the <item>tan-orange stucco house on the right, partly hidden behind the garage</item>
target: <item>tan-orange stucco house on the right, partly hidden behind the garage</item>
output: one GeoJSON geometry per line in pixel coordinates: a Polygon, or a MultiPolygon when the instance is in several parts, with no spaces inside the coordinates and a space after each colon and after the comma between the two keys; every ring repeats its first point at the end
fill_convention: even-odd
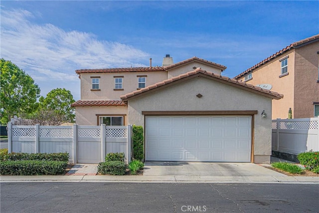
{"type": "Polygon", "coordinates": [[[272,119],[288,118],[290,108],[293,118],[319,116],[319,34],[290,44],[234,78],[270,84],[284,94],[273,100],[272,119]]]}

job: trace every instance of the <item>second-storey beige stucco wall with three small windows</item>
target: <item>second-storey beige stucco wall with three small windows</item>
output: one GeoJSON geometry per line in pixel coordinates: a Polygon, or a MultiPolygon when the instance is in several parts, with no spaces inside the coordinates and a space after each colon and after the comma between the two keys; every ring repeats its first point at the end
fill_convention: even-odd
{"type": "Polygon", "coordinates": [[[81,100],[120,100],[120,96],[135,91],[138,88],[137,75],[147,75],[146,86],[167,79],[167,72],[108,72],[108,73],[81,73],[81,100]],[[91,76],[100,76],[100,91],[91,91],[91,76]],[[123,77],[123,89],[115,91],[114,76],[123,77]]]}

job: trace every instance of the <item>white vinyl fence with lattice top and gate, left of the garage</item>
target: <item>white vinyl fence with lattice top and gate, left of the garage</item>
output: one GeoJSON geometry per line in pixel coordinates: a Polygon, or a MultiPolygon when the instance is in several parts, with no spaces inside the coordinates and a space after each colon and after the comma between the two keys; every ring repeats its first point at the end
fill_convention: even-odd
{"type": "Polygon", "coordinates": [[[103,162],[108,153],[124,152],[131,161],[132,125],[20,126],[8,123],[8,152],[69,153],[69,162],[103,162]]]}

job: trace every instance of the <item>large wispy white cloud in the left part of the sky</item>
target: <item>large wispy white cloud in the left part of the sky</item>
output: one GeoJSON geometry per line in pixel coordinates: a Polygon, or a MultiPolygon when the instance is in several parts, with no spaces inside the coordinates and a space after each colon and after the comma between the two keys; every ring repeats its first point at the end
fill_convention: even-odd
{"type": "Polygon", "coordinates": [[[140,61],[148,57],[148,53],[133,46],[98,40],[93,33],[65,31],[50,23],[36,24],[37,17],[40,15],[27,10],[1,9],[0,57],[25,70],[42,91],[58,87],[54,82],[63,86],[70,81],[78,85],[70,88],[71,92],[79,90],[76,69],[130,67],[141,65],[140,61]]]}

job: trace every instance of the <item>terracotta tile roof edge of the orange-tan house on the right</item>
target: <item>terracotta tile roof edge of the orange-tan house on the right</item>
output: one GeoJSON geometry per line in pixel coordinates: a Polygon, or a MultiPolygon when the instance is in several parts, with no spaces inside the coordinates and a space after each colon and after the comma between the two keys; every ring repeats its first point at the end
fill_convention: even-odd
{"type": "Polygon", "coordinates": [[[240,78],[246,74],[248,74],[249,72],[253,71],[254,69],[256,69],[257,67],[267,63],[268,61],[276,58],[277,56],[287,52],[288,50],[294,48],[294,47],[297,47],[301,44],[305,44],[305,43],[308,43],[310,41],[315,41],[316,39],[319,39],[319,34],[317,35],[314,35],[314,36],[311,36],[311,37],[308,37],[308,38],[305,38],[303,40],[300,40],[300,41],[296,41],[292,44],[290,44],[289,46],[286,46],[285,48],[281,49],[280,51],[276,52],[275,54],[269,56],[268,58],[264,59],[263,61],[259,62],[258,64],[250,67],[249,69],[245,70],[244,72],[240,73],[239,75],[235,76],[234,78],[237,79],[237,78],[240,78]]]}

